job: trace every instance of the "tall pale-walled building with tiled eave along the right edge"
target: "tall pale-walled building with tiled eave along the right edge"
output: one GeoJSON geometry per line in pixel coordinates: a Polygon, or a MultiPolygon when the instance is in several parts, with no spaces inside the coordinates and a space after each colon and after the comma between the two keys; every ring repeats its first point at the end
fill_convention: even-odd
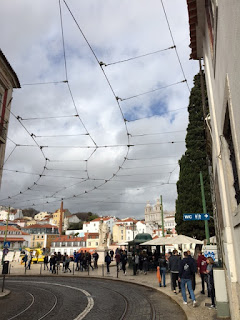
{"type": "Polygon", "coordinates": [[[236,320],[240,317],[240,1],[188,0],[188,13],[191,58],[204,60],[207,84],[210,115],[205,121],[224,268],[221,282],[225,276],[231,318],[236,320]]]}

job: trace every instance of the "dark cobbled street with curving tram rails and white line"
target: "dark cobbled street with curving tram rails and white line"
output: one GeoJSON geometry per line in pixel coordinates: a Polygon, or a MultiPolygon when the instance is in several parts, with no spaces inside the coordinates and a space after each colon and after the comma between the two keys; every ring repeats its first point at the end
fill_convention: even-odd
{"type": "MultiPolygon", "coordinates": [[[[68,278],[66,281],[64,277],[20,277],[9,279],[7,283],[12,292],[9,303],[14,305],[16,301],[16,305],[12,310],[5,307],[3,320],[49,320],[53,317],[59,320],[66,317],[72,320],[103,317],[106,320],[159,320],[162,316],[165,319],[165,314],[175,315],[173,320],[185,319],[168,297],[150,287],[127,282],[99,278],[68,278]],[[27,297],[31,297],[31,301],[27,297]]],[[[0,300],[0,308],[2,306],[0,300]]]]}

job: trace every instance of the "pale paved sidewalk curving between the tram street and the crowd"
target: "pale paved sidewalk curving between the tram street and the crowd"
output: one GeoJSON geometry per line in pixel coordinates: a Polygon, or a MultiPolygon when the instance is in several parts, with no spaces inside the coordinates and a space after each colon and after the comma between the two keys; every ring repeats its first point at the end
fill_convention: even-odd
{"type": "MultiPolygon", "coordinates": [[[[164,287],[159,287],[155,271],[149,271],[147,275],[140,273],[134,276],[132,269],[127,269],[127,275],[124,275],[123,272],[120,271],[117,278],[117,268],[114,264],[110,267],[110,274],[107,274],[106,267],[104,266],[103,268],[102,265],[100,265],[98,269],[93,271],[90,268],[89,275],[87,271],[81,272],[81,271],[73,270],[73,263],[70,264],[70,268],[72,270],[71,273],[70,272],[63,273],[62,270],[58,270],[58,274],[52,274],[47,270],[44,271],[43,265],[32,264],[31,270],[26,270],[26,275],[25,275],[24,266],[21,265],[19,262],[13,262],[10,264],[10,274],[6,275],[5,286],[7,287],[7,279],[8,277],[11,277],[11,276],[55,276],[55,277],[64,276],[64,277],[90,277],[90,278],[104,277],[105,279],[111,279],[116,281],[128,281],[134,284],[148,286],[168,295],[171,299],[176,301],[181,306],[181,308],[185,311],[188,320],[217,319],[217,311],[215,309],[209,309],[207,306],[205,306],[205,303],[207,303],[210,306],[211,300],[210,298],[207,297],[206,294],[202,295],[200,293],[201,283],[200,283],[200,277],[198,275],[196,275],[196,290],[195,290],[197,306],[193,308],[192,301],[189,298],[188,298],[188,304],[183,305],[181,293],[178,293],[176,295],[172,292],[171,283],[170,283],[170,274],[166,275],[167,286],[164,288],[164,287]]],[[[0,291],[0,298],[4,296],[1,291],[0,291]]],[[[6,293],[9,293],[9,292],[6,292],[6,293]]]]}

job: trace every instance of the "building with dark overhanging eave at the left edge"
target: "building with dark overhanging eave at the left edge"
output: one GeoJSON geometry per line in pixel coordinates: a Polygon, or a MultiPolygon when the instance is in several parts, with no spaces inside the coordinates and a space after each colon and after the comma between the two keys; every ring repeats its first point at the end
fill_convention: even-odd
{"type": "MultiPolygon", "coordinates": [[[[3,167],[13,88],[20,88],[18,77],[0,50],[0,169],[3,167]]],[[[0,170],[0,186],[2,170],[0,170]]]]}

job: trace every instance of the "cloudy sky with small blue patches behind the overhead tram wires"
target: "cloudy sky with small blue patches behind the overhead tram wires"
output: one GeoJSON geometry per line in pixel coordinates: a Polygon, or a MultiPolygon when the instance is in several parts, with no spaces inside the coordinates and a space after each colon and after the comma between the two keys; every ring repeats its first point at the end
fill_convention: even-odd
{"type": "Polygon", "coordinates": [[[161,195],[174,211],[198,73],[186,1],[2,0],[0,29],[21,84],[0,205],[140,219],[161,195]]]}

